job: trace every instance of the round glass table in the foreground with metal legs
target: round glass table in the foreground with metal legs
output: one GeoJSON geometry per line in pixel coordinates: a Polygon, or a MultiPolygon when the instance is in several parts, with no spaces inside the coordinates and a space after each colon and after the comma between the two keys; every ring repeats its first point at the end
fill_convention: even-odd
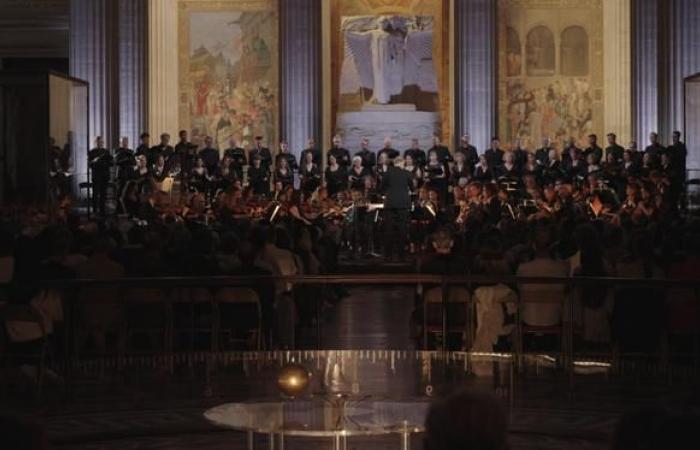
{"type": "Polygon", "coordinates": [[[409,450],[411,435],[424,431],[430,403],[329,395],[289,401],[227,403],[207,410],[212,423],[247,433],[248,450],[255,435],[267,435],[270,450],[283,450],[285,439],[328,438],[334,450],[346,450],[352,436],[396,435],[409,450]]]}

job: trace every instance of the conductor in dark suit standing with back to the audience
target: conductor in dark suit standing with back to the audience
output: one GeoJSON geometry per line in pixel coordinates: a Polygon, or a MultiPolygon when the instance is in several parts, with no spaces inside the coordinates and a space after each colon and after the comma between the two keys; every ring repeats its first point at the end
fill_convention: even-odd
{"type": "Polygon", "coordinates": [[[411,209],[411,172],[404,170],[404,160],[397,156],[382,181],[384,188],[384,255],[404,260],[411,209]]]}

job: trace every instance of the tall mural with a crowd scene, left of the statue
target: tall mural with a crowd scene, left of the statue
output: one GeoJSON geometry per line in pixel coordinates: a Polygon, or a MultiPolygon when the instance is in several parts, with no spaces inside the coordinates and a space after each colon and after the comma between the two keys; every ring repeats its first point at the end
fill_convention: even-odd
{"type": "Polygon", "coordinates": [[[274,2],[180,4],[179,122],[193,141],[276,141],[277,16],[274,2]]]}

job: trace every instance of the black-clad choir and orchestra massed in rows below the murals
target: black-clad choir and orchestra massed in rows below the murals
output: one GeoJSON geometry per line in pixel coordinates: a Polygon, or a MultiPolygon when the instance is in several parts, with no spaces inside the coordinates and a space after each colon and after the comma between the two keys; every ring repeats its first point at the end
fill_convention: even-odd
{"type": "MultiPolygon", "coordinates": [[[[685,188],[685,154],[678,154],[685,147],[679,134],[666,149],[652,133],[644,152],[636,150],[636,143],[627,149],[618,145],[613,133],[607,135],[605,150],[595,135],[588,137],[584,150],[570,139],[561,151],[548,138],[541,148],[528,151],[519,140],[501,148],[494,137],[483,153],[468,135],[454,153],[437,136],[427,152],[417,139],[403,152],[388,138],[378,151],[363,139],[352,156],[335,136],[325,155],[309,140],[298,162],[284,141],[273,156],[262,137],[255,138],[252,149],[239,147],[232,138],[221,153],[211,137],[204,137],[201,148],[188,141],[186,131],[179,138],[173,148],[163,134],[158,146],[149,147],[148,133],[143,133],[135,152],[126,138],[114,152],[98,138],[88,154],[94,211],[106,213],[105,190],[113,167],[119,214],[136,220],[209,223],[225,215],[322,223],[336,229],[349,254],[357,257],[382,247],[389,253],[393,247],[399,255],[404,249],[420,251],[425,237],[445,225],[468,233],[475,223],[658,220],[679,211],[685,188]],[[410,198],[405,210],[403,203],[397,210],[387,199],[397,180],[410,198]]],[[[60,168],[58,150],[50,152],[60,168]]]]}

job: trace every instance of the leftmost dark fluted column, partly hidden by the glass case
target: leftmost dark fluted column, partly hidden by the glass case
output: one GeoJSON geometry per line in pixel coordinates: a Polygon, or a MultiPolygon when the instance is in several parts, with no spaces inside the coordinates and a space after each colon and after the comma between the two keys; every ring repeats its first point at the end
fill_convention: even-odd
{"type": "Polygon", "coordinates": [[[116,0],[70,2],[70,74],[90,83],[90,140],[115,143],[119,132],[116,0]]]}

